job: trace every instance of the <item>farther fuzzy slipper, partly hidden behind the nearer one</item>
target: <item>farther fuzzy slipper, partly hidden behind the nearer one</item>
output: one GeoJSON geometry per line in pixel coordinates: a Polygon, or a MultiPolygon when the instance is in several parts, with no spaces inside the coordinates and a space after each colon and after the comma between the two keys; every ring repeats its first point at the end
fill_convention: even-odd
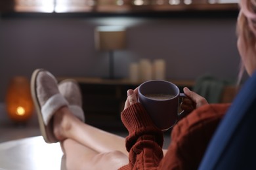
{"type": "Polygon", "coordinates": [[[62,80],[58,84],[58,90],[68,101],[68,107],[71,112],[82,122],[85,122],[85,114],[82,109],[82,95],[77,82],[73,79],[62,80]]]}

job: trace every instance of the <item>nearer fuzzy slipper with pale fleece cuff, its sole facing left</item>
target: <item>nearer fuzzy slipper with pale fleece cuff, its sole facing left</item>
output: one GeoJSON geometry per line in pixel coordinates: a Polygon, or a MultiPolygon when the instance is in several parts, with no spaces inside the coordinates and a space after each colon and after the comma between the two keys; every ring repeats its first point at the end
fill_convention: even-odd
{"type": "Polygon", "coordinates": [[[32,99],[37,112],[41,135],[46,143],[56,143],[53,134],[53,114],[68,101],[60,94],[56,78],[44,69],[36,69],[31,78],[32,99]]]}

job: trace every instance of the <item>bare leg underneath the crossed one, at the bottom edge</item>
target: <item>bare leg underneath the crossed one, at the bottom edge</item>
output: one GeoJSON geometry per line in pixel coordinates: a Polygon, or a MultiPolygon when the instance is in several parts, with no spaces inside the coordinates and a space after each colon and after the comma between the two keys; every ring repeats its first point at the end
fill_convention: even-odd
{"type": "Polygon", "coordinates": [[[119,169],[128,163],[120,151],[98,153],[72,139],[62,143],[66,152],[67,169],[119,169]]]}

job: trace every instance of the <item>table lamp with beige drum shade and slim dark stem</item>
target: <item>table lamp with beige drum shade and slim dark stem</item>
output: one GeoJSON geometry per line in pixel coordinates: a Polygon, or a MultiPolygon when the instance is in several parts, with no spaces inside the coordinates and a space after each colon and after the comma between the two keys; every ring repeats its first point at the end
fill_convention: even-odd
{"type": "Polygon", "coordinates": [[[119,26],[99,26],[95,29],[95,47],[97,50],[107,51],[109,57],[108,78],[115,79],[114,50],[125,48],[125,28],[119,26]]]}

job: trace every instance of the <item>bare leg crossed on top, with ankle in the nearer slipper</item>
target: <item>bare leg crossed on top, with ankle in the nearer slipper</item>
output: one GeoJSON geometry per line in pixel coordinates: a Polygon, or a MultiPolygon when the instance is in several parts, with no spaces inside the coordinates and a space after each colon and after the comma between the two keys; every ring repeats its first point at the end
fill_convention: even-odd
{"type": "Polygon", "coordinates": [[[123,137],[84,124],[68,107],[60,108],[54,114],[53,121],[54,135],[59,141],[73,139],[98,153],[118,150],[128,156],[123,137]]]}

